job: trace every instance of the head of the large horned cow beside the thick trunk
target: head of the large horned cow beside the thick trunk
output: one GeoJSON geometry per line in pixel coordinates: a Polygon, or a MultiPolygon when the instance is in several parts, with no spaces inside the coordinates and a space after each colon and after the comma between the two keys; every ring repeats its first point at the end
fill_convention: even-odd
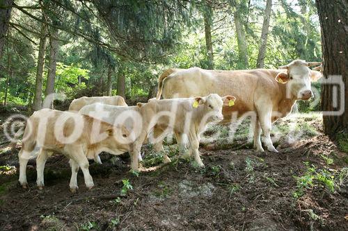
{"type": "Polygon", "coordinates": [[[310,89],[310,80],[317,78],[308,67],[321,65],[321,62],[306,62],[305,60],[294,60],[290,64],[278,67],[287,69],[287,72],[280,72],[276,76],[279,83],[286,83],[287,90],[295,99],[308,100],[313,96],[310,89]]]}

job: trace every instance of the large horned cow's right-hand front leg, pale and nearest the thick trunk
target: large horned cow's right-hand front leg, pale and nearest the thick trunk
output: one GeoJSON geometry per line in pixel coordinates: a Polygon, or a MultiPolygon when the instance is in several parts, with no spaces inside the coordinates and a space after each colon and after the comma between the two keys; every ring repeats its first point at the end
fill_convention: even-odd
{"type": "Polygon", "coordinates": [[[272,128],[271,113],[272,113],[271,108],[262,108],[262,110],[259,111],[258,118],[259,118],[260,126],[263,132],[264,145],[267,146],[268,151],[278,153],[276,148],[274,148],[272,140],[271,140],[271,128],[272,128]]]}

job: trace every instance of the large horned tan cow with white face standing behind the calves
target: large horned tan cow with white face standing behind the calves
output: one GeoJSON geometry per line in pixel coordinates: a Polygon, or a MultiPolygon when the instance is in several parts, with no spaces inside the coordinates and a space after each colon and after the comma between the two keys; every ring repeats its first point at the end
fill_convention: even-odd
{"type": "Polygon", "coordinates": [[[237,114],[255,112],[254,148],[278,152],[271,141],[271,123],[291,112],[296,100],[308,100],[313,96],[310,81],[322,74],[308,67],[320,62],[294,60],[279,69],[253,69],[239,71],[168,69],[159,78],[157,99],[204,96],[211,93],[237,97],[234,107],[223,108],[223,122],[229,122],[237,114]],[[262,130],[261,130],[262,129],[262,130]]]}

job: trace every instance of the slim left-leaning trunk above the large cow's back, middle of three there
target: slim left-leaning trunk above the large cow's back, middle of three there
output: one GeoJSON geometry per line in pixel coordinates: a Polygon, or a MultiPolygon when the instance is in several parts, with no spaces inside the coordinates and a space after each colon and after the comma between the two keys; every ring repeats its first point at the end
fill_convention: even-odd
{"type": "Polygon", "coordinates": [[[236,26],[236,34],[237,34],[237,42],[238,42],[239,59],[242,62],[244,62],[244,67],[248,68],[249,66],[248,51],[246,49],[245,33],[244,33],[244,29],[240,19],[238,9],[235,11],[235,26],[236,26]]]}

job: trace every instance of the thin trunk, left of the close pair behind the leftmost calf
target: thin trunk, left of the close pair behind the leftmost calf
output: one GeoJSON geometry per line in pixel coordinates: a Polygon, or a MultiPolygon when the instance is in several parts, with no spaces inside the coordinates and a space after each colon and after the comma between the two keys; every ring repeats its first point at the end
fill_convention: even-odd
{"type": "Polygon", "coordinates": [[[43,74],[43,70],[45,66],[46,35],[47,35],[47,24],[42,24],[41,32],[40,32],[38,67],[36,69],[35,95],[34,95],[34,101],[33,101],[33,110],[35,111],[40,110],[42,107],[42,82],[43,82],[42,74],[43,74]]]}

